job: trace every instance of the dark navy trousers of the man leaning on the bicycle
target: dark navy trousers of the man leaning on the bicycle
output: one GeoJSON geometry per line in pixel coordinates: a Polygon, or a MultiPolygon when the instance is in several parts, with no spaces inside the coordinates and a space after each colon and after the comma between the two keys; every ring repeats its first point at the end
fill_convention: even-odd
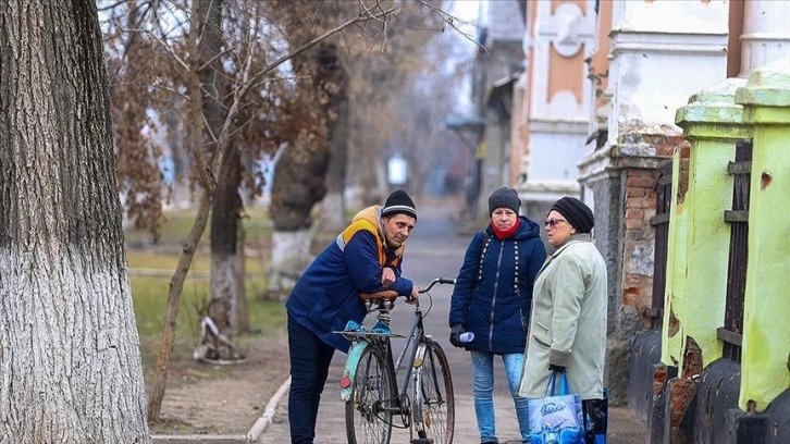
{"type": "Polygon", "coordinates": [[[288,313],[288,356],[291,358],[291,392],[288,422],[293,444],[312,443],[321,392],[326,383],[335,349],[288,313]]]}

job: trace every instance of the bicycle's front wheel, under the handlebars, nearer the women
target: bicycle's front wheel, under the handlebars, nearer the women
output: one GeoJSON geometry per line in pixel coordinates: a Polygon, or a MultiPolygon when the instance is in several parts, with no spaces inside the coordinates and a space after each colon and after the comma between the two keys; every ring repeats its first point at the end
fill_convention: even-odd
{"type": "Polygon", "coordinates": [[[416,369],[413,421],[420,437],[430,439],[434,444],[450,444],[455,429],[455,394],[449,363],[442,346],[432,341],[427,346],[422,366],[416,369]]]}

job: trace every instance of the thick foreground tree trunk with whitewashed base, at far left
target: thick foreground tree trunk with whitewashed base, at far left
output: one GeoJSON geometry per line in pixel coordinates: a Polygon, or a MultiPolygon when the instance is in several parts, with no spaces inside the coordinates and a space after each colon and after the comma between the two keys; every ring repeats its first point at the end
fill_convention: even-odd
{"type": "Polygon", "coordinates": [[[0,10],[0,441],[150,442],[96,2],[0,10]]]}

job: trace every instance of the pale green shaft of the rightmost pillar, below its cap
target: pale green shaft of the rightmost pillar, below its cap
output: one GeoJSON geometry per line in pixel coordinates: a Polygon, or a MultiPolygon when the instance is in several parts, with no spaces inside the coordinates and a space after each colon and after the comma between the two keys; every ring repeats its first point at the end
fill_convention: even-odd
{"type": "Polygon", "coordinates": [[[738,404],[753,399],[762,411],[790,387],[790,125],[757,126],[754,143],[738,404]]]}

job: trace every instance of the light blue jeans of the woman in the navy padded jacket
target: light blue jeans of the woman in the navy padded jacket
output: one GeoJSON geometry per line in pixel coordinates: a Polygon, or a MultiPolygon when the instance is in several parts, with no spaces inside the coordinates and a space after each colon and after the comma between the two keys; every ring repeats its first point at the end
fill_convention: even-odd
{"type": "MultiPolygon", "coordinates": [[[[497,443],[496,416],[494,414],[494,355],[486,351],[472,350],[472,394],[474,395],[474,415],[478,417],[478,430],[481,443],[497,443]]],[[[529,443],[529,410],[527,398],[516,395],[523,370],[523,354],[502,355],[505,365],[507,385],[516,405],[518,429],[521,442],[529,443]]]]}

